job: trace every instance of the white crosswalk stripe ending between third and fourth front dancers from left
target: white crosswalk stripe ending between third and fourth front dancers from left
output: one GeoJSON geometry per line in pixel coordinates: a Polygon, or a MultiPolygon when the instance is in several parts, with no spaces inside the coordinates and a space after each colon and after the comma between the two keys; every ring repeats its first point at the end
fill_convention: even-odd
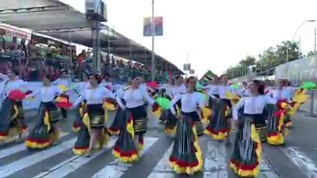
{"type": "Polygon", "coordinates": [[[78,169],[79,167],[81,167],[82,165],[85,165],[89,161],[103,154],[105,151],[111,149],[114,146],[115,141],[116,139],[111,139],[108,142],[106,149],[96,152],[89,158],[86,158],[84,156],[77,156],[78,159],[76,159],[74,156],[73,159],[69,159],[68,161],[66,160],[63,163],[60,163],[59,165],[56,165],[53,168],[49,169],[49,171],[40,173],[38,176],[34,178],[63,178],[68,174],[72,173],[73,171],[75,171],[76,169],[78,169]]]}

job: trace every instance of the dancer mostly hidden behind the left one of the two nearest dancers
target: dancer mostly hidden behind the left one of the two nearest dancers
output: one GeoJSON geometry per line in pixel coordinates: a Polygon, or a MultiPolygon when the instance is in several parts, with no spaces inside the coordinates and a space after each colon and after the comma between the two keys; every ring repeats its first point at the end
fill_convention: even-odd
{"type": "MultiPolygon", "coordinates": [[[[184,78],[182,76],[176,76],[175,85],[172,88],[172,98],[176,97],[180,94],[180,92],[186,91],[186,87],[184,85],[184,78]]],[[[181,102],[178,101],[173,107],[175,107],[176,114],[180,116],[181,114],[181,102]]],[[[176,125],[177,125],[177,118],[174,115],[170,115],[170,117],[165,122],[165,133],[169,136],[174,136],[176,134],[176,125]]]]}

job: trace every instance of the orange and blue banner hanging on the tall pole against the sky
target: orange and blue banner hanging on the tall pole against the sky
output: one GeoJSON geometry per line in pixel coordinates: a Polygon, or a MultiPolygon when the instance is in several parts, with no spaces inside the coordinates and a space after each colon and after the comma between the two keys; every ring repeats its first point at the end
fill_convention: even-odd
{"type": "MultiPolygon", "coordinates": [[[[155,17],[155,36],[163,36],[163,17],[155,17]]],[[[143,19],[143,36],[152,36],[152,17],[145,17],[143,19]]]]}

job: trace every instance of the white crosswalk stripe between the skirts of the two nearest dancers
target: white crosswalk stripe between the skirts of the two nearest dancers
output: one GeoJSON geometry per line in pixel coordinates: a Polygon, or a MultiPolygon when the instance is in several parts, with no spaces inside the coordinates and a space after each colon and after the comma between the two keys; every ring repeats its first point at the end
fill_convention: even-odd
{"type": "Polygon", "coordinates": [[[204,164],[204,178],[228,178],[224,142],[208,142],[204,164]]]}

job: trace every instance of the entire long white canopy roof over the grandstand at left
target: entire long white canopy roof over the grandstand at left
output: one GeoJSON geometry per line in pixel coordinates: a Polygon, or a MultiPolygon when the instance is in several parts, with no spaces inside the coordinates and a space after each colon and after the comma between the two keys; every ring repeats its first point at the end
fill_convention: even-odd
{"type": "MultiPolygon", "coordinates": [[[[31,29],[72,43],[93,46],[93,24],[85,14],[59,0],[0,0],[0,22],[31,29]]],[[[124,58],[151,64],[151,50],[133,42],[114,30],[102,25],[101,48],[111,47],[111,53],[124,58]]],[[[175,74],[183,74],[174,64],[156,55],[156,67],[175,74]]]]}

